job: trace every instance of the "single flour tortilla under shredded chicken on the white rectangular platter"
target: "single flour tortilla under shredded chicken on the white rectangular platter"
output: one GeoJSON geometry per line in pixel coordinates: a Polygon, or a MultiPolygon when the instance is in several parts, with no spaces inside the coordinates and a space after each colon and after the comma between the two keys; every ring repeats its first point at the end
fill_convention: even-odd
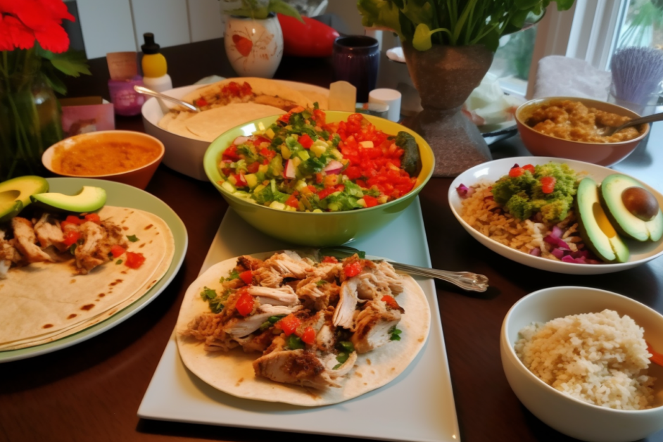
{"type": "MultiPolygon", "coordinates": [[[[254,256],[266,259],[272,254],[254,256]]],[[[184,365],[215,389],[239,398],[305,407],[339,403],[389,384],[405,371],[426,343],[431,325],[428,301],[419,284],[412,277],[405,276],[405,290],[396,298],[405,309],[398,323],[398,329],[403,331],[400,341],[391,341],[370,353],[358,355],[356,368],[346,375],[345,380],[341,379],[341,388],[305,389],[255,377],[252,364],[260,353],[244,353],[241,348],[228,353],[208,352],[201,341],[180,334],[194,317],[209,312],[208,303],[200,296],[203,287],[219,289],[220,277],[227,277],[236,262],[237,258],[232,258],[213,265],[189,286],[175,327],[177,347],[184,365]]]]}

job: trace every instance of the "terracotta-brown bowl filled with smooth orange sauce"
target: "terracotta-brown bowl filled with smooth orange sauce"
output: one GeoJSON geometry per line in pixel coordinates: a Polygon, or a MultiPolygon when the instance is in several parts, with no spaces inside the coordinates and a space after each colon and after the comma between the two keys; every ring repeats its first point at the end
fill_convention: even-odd
{"type": "Polygon", "coordinates": [[[46,169],[63,177],[108,179],[110,181],[129,184],[130,186],[138,187],[139,189],[145,189],[150,182],[150,179],[152,179],[152,175],[154,175],[159,163],[161,163],[164,152],[165,149],[163,143],[150,135],[129,130],[106,130],[75,135],[74,137],[66,138],[53,144],[53,146],[46,149],[44,155],[42,155],[42,163],[46,169]],[[122,172],[103,173],[102,168],[102,172],[95,173],[94,175],[73,175],[72,173],[63,172],[58,170],[58,165],[56,164],[56,161],[53,160],[56,151],[66,151],[83,144],[86,146],[92,146],[92,149],[99,149],[101,151],[101,149],[104,149],[104,146],[108,146],[109,143],[128,143],[134,146],[149,146],[158,151],[158,154],[156,158],[150,160],[149,163],[137,165],[134,168],[122,172]]]}

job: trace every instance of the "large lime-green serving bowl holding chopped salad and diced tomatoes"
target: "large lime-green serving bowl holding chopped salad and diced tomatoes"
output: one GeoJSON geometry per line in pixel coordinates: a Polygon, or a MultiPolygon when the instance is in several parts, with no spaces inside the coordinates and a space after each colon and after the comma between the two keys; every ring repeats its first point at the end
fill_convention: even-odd
{"type": "MultiPolygon", "coordinates": [[[[337,110],[327,110],[327,122],[339,122],[347,120],[350,112],[341,112],[337,110]]],[[[221,192],[221,195],[228,202],[236,213],[239,214],[248,224],[265,234],[274,236],[274,238],[287,241],[292,244],[302,246],[322,247],[339,246],[348,241],[360,238],[366,234],[381,229],[382,226],[396,219],[400,213],[405,210],[410,203],[414,201],[415,196],[424,187],[433,174],[435,159],[431,146],[420,137],[416,132],[399,125],[398,123],[385,120],[384,118],[364,115],[367,120],[372,122],[375,127],[386,134],[396,135],[400,131],[412,134],[419,144],[419,153],[422,158],[422,170],[417,177],[417,185],[409,194],[402,196],[389,203],[374,206],[372,208],[362,208],[349,210],[346,212],[290,212],[278,210],[267,206],[261,206],[252,203],[239,196],[234,196],[225,189],[222,189],[219,181],[221,175],[218,165],[221,161],[223,151],[232,145],[236,137],[248,136],[258,130],[260,122],[269,127],[274,123],[278,115],[272,117],[260,118],[245,125],[234,127],[224,132],[215,139],[205,153],[203,165],[205,172],[214,186],[221,192]]]]}

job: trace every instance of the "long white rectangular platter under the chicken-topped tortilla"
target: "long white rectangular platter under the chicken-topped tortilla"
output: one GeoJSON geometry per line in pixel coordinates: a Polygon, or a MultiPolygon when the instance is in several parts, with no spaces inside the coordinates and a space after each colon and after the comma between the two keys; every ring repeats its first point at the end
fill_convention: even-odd
{"type": "MultiPolygon", "coordinates": [[[[431,265],[419,198],[390,225],[349,245],[369,255],[423,267],[431,265]]],[[[234,256],[283,248],[288,246],[260,234],[229,209],[201,272],[234,256]]],[[[381,389],[317,408],[236,398],[189,372],[171,338],[138,415],[146,419],[384,441],[460,441],[435,285],[432,279],[417,282],[431,306],[429,339],[408,369],[381,389]]]]}

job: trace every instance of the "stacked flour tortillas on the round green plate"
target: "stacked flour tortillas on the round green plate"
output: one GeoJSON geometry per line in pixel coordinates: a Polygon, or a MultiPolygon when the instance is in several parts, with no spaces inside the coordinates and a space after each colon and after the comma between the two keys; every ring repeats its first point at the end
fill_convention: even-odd
{"type": "Polygon", "coordinates": [[[142,253],[144,263],[132,269],[111,260],[88,274],[75,274],[72,261],[12,268],[0,279],[0,351],[55,341],[106,320],[144,296],[168,271],[175,241],[160,217],[112,206],[99,216],[136,240],[127,251],[142,253]]]}

